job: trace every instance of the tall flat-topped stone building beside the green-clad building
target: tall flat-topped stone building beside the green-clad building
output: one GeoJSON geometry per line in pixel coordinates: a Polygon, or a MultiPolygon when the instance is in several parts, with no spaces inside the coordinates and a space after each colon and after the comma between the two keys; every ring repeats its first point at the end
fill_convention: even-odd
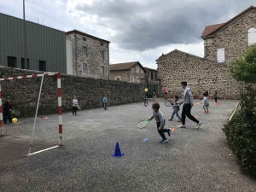
{"type": "Polygon", "coordinates": [[[66,33],[67,74],[109,79],[109,44],[84,32],[66,33]]]}

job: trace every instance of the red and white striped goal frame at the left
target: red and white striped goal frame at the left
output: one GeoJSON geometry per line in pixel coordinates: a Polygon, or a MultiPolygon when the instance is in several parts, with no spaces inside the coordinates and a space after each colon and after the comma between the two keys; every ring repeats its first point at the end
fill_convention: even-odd
{"type": "MultiPolygon", "coordinates": [[[[3,106],[2,106],[2,90],[1,90],[1,81],[9,81],[14,79],[30,79],[30,78],[39,78],[39,77],[46,77],[46,76],[57,76],[57,94],[58,94],[58,119],[59,119],[59,146],[62,145],[62,116],[61,116],[61,73],[43,73],[43,74],[32,74],[32,75],[23,75],[17,77],[10,77],[10,78],[3,78],[0,79],[0,131],[1,136],[3,136],[3,106]]],[[[37,118],[35,116],[35,118],[37,118]]],[[[50,148],[49,148],[50,149],[50,148]]],[[[44,149],[46,150],[46,149],[44,149]]],[[[42,150],[42,151],[44,151],[42,150]]],[[[37,154],[35,152],[33,154],[37,154]]],[[[29,154],[28,154],[29,155],[29,154]]]]}

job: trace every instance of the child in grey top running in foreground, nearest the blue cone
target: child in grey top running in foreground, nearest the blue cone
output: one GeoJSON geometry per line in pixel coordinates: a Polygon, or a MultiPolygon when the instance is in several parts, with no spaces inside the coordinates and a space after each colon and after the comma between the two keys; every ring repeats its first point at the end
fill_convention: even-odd
{"type": "Polygon", "coordinates": [[[159,132],[160,137],[163,138],[162,141],[160,141],[160,143],[166,143],[168,140],[166,139],[165,132],[167,132],[170,137],[171,128],[164,129],[164,126],[166,124],[166,119],[164,117],[164,114],[160,112],[159,108],[160,108],[160,104],[158,102],[155,102],[152,104],[153,115],[148,120],[155,119],[157,131],[159,132]]]}

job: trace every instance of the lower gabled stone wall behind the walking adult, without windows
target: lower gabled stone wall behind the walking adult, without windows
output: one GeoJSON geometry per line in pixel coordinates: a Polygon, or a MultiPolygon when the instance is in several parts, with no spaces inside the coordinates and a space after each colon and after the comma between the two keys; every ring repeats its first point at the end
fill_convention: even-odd
{"type": "MultiPolygon", "coordinates": [[[[231,77],[229,67],[175,49],[157,60],[161,90],[166,85],[170,96],[181,96],[181,82],[187,81],[194,96],[201,96],[210,86],[210,95],[238,99],[242,84],[231,77]]],[[[160,91],[162,92],[162,91],[160,91]]],[[[162,93],[161,93],[162,94],[162,93]]]]}

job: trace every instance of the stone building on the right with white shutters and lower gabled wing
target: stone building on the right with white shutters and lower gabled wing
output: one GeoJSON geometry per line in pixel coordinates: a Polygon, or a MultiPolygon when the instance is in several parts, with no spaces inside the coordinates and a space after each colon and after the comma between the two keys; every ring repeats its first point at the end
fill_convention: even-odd
{"type": "Polygon", "coordinates": [[[206,26],[201,35],[204,58],[177,49],[161,55],[156,60],[161,89],[166,85],[171,96],[180,96],[180,83],[187,81],[195,96],[205,90],[211,96],[216,90],[219,97],[240,98],[243,84],[232,78],[230,62],[256,43],[255,26],[256,7],[251,6],[225,23],[206,26]]]}

